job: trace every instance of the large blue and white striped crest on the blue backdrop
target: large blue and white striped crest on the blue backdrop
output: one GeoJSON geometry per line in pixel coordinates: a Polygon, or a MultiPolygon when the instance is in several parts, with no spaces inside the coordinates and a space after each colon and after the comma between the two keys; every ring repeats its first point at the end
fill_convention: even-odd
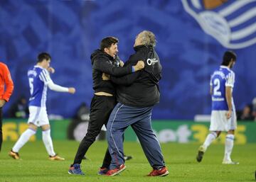
{"type": "Polygon", "coordinates": [[[240,49],[256,43],[256,0],[182,0],[182,4],[224,47],[240,49]]]}

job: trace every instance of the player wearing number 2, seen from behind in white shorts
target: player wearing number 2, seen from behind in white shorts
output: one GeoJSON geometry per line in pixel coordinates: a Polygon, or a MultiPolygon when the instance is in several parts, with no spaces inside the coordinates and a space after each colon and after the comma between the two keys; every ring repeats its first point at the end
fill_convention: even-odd
{"type": "Polygon", "coordinates": [[[220,132],[226,131],[225,154],[223,164],[238,164],[230,158],[234,145],[234,133],[237,127],[235,105],[233,101],[233,88],[235,84],[235,73],[231,70],[236,61],[236,55],[232,51],[226,51],[223,55],[223,63],[210,77],[210,94],[212,96],[212,112],[210,118],[210,133],[206,141],[199,147],[198,162],[203,159],[203,154],[211,142],[215,140],[220,132]]]}

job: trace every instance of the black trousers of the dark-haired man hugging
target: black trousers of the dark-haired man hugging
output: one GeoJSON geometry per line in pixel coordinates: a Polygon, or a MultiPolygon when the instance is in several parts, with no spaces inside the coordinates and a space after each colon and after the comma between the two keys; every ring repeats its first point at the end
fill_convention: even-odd
{"type": "MultiPolygon", "coordinates": [[[[80,142],[78,152],[75,154],[73,164],[81,164],[82,157],[85,156],[87,150],[91,146],[97,135],[99,135],[103,125],[107,126],[107,121],[110,118],[116,99],[114,96],[93,96],[90,105],[90,121],[85,137],[80,142]]],[[[102,167],[108,167],[111,162],[110,152],[106,151],[102,167]]]]}

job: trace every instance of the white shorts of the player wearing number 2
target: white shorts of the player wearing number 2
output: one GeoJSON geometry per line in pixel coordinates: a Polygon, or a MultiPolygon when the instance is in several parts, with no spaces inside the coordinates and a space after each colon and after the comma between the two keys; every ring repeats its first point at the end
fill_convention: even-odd
{"type": "Polygon", "coordinates": [[[210,131],[226,131],[235,130],[237,128],[237,118],[233,111],[231,118],[227,119],[225,113],[228,110],[212,110],[210,116],[210,131]]]}

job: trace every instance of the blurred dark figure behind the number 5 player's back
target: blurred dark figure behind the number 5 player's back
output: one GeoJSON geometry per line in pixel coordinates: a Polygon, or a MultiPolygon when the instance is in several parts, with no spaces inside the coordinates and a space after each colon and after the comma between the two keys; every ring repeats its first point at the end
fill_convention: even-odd
{"type": "Polygon", "coordinates": [[[9,109],[10,118],[28,118],[28,103],[25,96],[21,96],[18,100],[11,105],[9,109]]]}

